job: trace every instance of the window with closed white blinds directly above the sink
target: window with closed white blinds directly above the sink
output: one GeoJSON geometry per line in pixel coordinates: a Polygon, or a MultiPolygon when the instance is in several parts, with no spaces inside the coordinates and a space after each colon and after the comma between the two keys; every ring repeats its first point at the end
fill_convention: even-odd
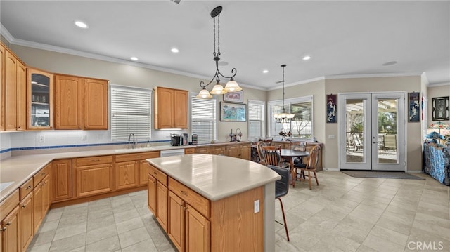
{"type": "Polygon", "coordinates": [[[111,140],[150,140],[151,90],[111,86],[111,140]]]}

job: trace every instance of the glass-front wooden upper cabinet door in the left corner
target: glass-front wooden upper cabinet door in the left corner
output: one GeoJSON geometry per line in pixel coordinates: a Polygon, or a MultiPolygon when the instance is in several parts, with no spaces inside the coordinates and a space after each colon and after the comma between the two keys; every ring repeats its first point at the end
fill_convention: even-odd
{"type": "Polygon", "coordinates": [[[28,129],[53,128],[53,74],[27,69],[28,129]]]}

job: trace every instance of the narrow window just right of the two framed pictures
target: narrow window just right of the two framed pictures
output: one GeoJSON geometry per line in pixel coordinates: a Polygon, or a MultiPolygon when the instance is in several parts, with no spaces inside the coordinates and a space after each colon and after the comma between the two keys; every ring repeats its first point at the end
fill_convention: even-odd
{"type": "Polygon", "coordinates": [[[265,102],[248,100],[248,140],[266,137],[264,110],[265,102]]]}

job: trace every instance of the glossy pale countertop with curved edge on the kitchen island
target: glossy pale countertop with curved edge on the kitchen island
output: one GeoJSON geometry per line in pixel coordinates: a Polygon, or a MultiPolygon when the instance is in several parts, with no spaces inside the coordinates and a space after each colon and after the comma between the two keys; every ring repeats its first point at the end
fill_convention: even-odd
{"type": "Polygon", "coordinates": [[[212,154],[188,154],[146,159],[203,197],[217,201],[281,177],[270,168],[245,159],[212,154]]]}

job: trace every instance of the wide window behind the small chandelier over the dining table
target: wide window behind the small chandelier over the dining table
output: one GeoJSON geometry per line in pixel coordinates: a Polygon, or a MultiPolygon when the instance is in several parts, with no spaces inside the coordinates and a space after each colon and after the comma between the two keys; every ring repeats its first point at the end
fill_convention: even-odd
{"type": "Polygon", "coordinates": [[[300,138],[304,140],[313,140],[313,107],[312,96],[292,98],[285,100],[285,112],[295,114],[290,123],[280,124],[274,120],[274,114],[281,113],[283,110],[283,101],[276,100],[268,102],[267,117],[269,117],[269,132],[271,137],[280,137],[280,131],[290,131],[291,138],[300,138]]]}

